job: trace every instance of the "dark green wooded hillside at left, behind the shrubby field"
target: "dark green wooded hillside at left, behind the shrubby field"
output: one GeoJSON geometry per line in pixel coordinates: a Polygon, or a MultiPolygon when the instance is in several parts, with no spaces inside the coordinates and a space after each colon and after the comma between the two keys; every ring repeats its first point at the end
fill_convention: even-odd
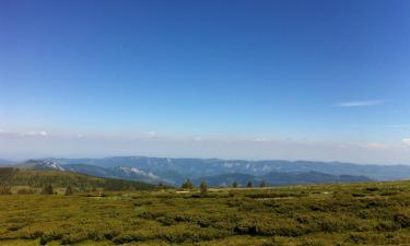
{"type": "Polygon", "coordinates": [[[1,186],[27,186],[32,188],[42,188],[45,185],[52,187],[68,187],[79,190],[92,190],[94,188],[105,190],[125,190],[125,189],[153,189],[153,185],[121,180],[113,178],[93,177],[84,174],[78,174],[63,171],[34,171],[19,169],[12,167],[0,168],[1,186]]]}

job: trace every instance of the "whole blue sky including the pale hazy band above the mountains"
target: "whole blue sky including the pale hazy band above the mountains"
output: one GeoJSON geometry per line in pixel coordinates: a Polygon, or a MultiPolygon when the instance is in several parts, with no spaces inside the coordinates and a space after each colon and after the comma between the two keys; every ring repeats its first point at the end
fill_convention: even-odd
{"type": "Polygon", "coordinates": [[[0,1],[0,157],[410,164],[410,1],[0,1]]]}

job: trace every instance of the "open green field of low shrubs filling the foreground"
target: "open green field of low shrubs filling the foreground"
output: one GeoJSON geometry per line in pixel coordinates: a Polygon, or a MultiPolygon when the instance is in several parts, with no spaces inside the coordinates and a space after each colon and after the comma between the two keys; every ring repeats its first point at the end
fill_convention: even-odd
{"type": "Polygon", "coordinates": [[[0,196],[0,245],[410,245],[410,183],[0,196]]]}

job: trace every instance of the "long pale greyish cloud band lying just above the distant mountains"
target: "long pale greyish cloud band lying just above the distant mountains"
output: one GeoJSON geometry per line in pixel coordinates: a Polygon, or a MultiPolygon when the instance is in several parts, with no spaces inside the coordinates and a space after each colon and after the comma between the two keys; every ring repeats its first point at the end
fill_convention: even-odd
{"type": "MultiPolygon", "coordinates": [[[[161,137],[154,139],[133,136],[90,136],[40,131],[28,137],[19,132],[0,134],[0,155],[24,157],[103,157],[107,155],[147,155],[164,157],[220,157],[246,160],[314,160],[376,164],[410,164],[410,136],[396,143],[330,142],[263,138],[197,138],[161,137]],[[43,133],[44,134],[44,133],[43,133]],[[257,140],[257,141],[255,141],[257,140]],[[266,141],[269,140],[269,141],[266,141]]],[[[85,132],[86,133],[86,132],[85,132]]]]}

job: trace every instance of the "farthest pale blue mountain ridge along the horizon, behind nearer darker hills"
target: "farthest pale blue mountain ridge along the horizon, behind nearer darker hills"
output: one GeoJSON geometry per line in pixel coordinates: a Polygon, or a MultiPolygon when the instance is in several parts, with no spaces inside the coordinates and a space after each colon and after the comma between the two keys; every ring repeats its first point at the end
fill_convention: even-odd
{"type": "Polygon", "coordinates": [[[104,159],[47,159],[60,165],[91,164],[103,167],[130,166],[144,172],[176,172],[184,176],[212,176],[223,173],[263,175],[269,172],[319,172],[332,175],[364,175],[375,180],[410,178],[407,165],[363,165],[341,162],[312,161],[245,161],[220,159],[166,159],[114,156],[104,159]]]}

